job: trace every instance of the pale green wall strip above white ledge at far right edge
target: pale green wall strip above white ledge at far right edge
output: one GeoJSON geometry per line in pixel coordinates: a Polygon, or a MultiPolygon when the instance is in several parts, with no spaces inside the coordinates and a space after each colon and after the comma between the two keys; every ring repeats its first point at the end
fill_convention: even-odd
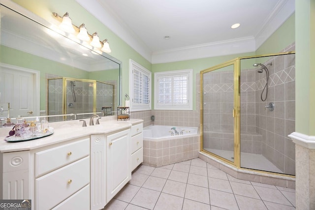
{"type": "Polygon", "coordinates": [[[295,0],[296,132],[315,136],[315,0],[295,0]]]}

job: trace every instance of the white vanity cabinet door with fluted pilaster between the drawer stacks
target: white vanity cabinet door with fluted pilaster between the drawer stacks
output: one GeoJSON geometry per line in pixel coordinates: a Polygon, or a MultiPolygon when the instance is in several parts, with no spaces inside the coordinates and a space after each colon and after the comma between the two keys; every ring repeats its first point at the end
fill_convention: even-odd
{"type": "Polygon", "coordinates": [[[91,135],[91,210],[104,206],[131,179],[130,129],[91,135]]]}

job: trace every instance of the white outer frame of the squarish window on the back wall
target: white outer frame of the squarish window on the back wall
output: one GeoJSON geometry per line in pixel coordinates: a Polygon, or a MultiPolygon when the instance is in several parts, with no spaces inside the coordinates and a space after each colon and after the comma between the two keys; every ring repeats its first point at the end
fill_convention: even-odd
{"type": "MultiPolygon", "coordinates": [[[[156,110],[192,110],[193,109],[193,69],[182,69],[182,70],[174,70],[174,71],[163,71],[163,72],[155,72],[154,73],[154,109],[156,110]],[[158,103],[159,99],[159,84],[158,78],[160,77],[176,77],[179,75],[186,74],[188,75],[188,82],[187,82],[187,98],[188,103],[186,106],[176,106],[173,105],[173,98],[172,98],[172,105],[160,105],[158,103]]],[[[173,92],[174,87],[171,87],[171,92],[173,92]]]]}

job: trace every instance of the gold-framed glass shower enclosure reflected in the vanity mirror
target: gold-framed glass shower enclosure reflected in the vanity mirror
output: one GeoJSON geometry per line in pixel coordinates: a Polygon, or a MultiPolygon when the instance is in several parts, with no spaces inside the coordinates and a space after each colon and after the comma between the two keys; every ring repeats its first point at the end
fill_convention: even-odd
{"type": "MultiPolygon", "coordinates": [[[[83,113],[112,115],[113,107],[116,107],[114,92],[114,85],[96,80],[66,77],[48,79],[48,115],[77,114],[78,119],[92,115],[83,113]]],[[[67,120],[67,116],[59,118],[63,119],[52,120],[67,120]]]]}

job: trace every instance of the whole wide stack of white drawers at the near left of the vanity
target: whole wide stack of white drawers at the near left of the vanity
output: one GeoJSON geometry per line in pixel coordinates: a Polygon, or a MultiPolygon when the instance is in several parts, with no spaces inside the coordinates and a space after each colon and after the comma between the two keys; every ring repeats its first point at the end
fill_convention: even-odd
{"type": "Polygon", "coordinates": [[[71,203],[90,208],[90,138],[35,152],[34,163],[36,210],[66,209],[71,203]]]}

